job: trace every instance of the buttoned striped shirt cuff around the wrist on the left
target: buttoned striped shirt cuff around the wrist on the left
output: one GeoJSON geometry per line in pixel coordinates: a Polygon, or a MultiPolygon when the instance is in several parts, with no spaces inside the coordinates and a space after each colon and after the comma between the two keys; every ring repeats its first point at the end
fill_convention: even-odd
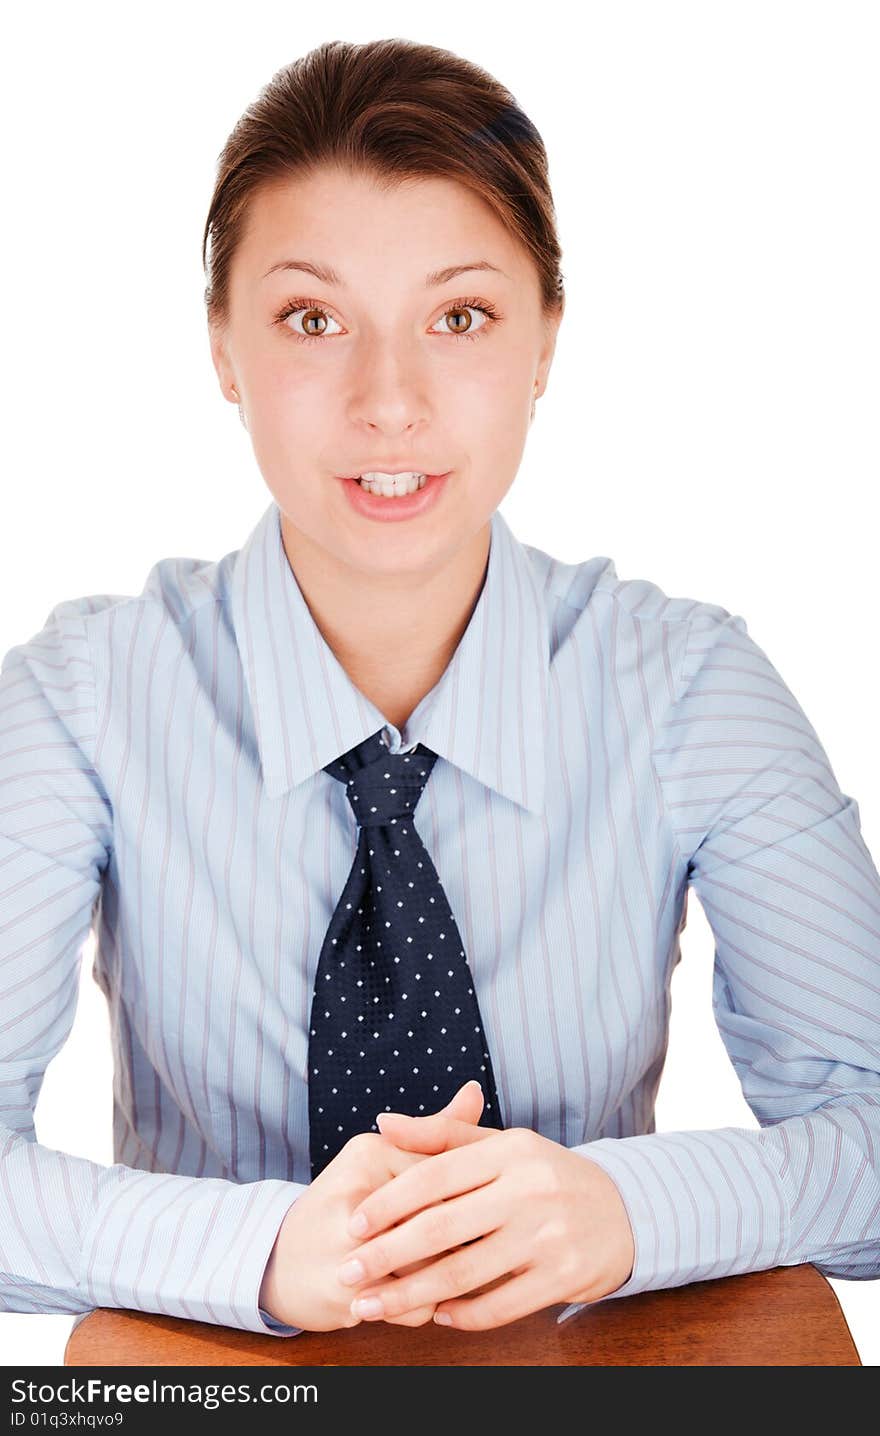
{"type": "Polygon", "coordinates": [[[83,1234],[79,1290],[95,1307],[299,1335],[301,1327],[260,1308],[260,1287],[304,1190],[280,1178],[237,1183],[108,1167],[83,1234]]]}

